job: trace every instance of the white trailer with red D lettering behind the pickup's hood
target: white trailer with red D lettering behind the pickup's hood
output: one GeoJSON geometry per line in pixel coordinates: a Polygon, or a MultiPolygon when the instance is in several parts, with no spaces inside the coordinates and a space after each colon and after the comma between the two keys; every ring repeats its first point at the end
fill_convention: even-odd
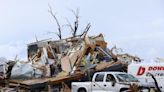
{"type": "Polygon", "coordinates": [[[128,73],[135,76],[144,87],[159,87],[164,92],[164,63],[132,63],[128,66],[128,73]],[[156,85],[150,74],[154,76],[156,85]]]}

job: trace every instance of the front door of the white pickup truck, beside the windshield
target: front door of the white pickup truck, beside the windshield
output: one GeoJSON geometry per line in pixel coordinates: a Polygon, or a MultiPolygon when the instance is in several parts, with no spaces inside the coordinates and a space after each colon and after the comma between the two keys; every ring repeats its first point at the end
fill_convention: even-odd
{"type": "Polygon", "coordinates": [[[107,92],[119,92],[119,88],[116,84],[116,79],[112,74],[106,75],[103,86],[107,92]]]}

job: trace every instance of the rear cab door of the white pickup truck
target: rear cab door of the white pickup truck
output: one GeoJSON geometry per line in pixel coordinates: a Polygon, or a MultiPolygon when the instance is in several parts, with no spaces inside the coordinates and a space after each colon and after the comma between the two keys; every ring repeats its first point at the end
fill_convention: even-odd
{"type": "Polygon", "coordinates": [[[104,89],[104,74],[97,74],[92,82],[92,92],[107,92],[104,89]]]}

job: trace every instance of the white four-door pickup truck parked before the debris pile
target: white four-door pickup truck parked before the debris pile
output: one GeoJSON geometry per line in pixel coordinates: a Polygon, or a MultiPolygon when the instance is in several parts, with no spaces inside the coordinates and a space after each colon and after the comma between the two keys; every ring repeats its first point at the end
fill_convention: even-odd
{"type": "Polygon", "coordinates": [[[122,92],[131,84],[139,85],[139,81],[123,72],[97,72],[92,82],[72,82],[72,92],[122,92]]]}

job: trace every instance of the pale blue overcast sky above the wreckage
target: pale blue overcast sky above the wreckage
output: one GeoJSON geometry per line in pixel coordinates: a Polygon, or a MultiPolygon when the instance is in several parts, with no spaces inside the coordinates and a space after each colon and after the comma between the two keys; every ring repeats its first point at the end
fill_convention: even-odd
{"type": "MultiPolygon", "coordinates": [[[[45,38],[57,39],[57,26],[48,4],[60,20],[73,22],[71,10],[80,9],[80,31],[90,22],[89,35],[103,33],[108,47],[149,62],[164,58],[163,0],[0,0],[0,57],[26,58],[26,44],[45,38]]],[[[71,35],[63,28],[64,37],[71,35]]]]}

